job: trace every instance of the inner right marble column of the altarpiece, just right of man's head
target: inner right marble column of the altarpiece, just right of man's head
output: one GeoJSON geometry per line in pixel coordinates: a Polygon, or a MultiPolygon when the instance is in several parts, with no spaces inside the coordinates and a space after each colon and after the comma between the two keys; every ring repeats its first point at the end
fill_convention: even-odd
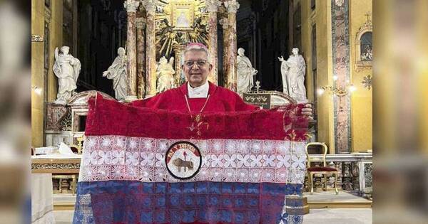
{"type": "Polygon", "coordinates": [[[208,10],[208,49],[211,55],[211,65],[213,65],[213,71],[208,76],[208,80],[218,85],[218,58],[217,58],[217,11],[218,7],[221,6],[219,0],[208,0],[205,1],[206,8],[208,10]]]}

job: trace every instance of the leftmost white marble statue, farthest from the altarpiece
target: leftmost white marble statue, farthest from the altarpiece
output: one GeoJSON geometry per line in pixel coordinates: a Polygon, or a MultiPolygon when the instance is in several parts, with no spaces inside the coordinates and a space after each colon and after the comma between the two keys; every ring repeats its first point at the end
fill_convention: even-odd
{"type": "Polygon", "coordinates": [[[66,104],[70,97],[76,93],[76,82],[81,70],[80,60],[68,54],[68,46],[61,47],[61,53],[55,48],[54,73],[58,77],[58,94],[56,103],[66,104]]]}

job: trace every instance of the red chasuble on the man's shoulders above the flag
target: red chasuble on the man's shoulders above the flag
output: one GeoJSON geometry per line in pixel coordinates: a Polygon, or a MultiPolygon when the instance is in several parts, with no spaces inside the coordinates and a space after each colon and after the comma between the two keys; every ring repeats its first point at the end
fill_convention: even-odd
{"type": "MultiPolygon", "coordinates": [[[[188,102],[192,112],[200,112],[203,105],[206,105],[203,112],[232,112],[258,110],[255,105],[246,104],[241,97],[224,87],[218,87],[209,82],[210,89],[207,98],[189,98],[188,102]]],[[[149,107],[151,109],[178,110],[188,112],[188,106],[185,100],[188,96],[188,85],[185,82],[180,87],[162,92],[154,97],[145,100],[136,100],[131,103],[135,107],[149,107]]]]}

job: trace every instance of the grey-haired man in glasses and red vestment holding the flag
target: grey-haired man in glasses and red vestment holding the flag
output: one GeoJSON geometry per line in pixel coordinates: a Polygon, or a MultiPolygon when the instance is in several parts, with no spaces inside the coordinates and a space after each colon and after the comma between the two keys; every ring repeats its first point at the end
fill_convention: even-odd
{"type": "MultiPolygon", "coordinates": [[[[213,65],[209,63],[208,48],[203,44],[188,44],[183,55],[184,63],[181,65],[181,69],[188,82],[154,97],[133,101],[131,104],[136,107],[196,113],[259,109],[258,106],[245,103],[236,92],[207,81],[213,65]]],[[[310,117],[312,115],[311,105],[305,105],[302,114],[310,117]]]]}

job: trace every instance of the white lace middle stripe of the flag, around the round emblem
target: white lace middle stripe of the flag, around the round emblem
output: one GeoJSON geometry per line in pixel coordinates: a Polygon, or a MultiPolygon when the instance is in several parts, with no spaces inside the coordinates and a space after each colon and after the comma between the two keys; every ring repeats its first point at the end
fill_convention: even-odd
{"type": "Polygon", "coordinates": [[[188,182],[303,183],[305,178],[305,142],[108,135],[87,137],[79,181],[180,181],[168,174],[164,157],[178,141],[192,142],[203,156],[199,173],[188,182]]]}

